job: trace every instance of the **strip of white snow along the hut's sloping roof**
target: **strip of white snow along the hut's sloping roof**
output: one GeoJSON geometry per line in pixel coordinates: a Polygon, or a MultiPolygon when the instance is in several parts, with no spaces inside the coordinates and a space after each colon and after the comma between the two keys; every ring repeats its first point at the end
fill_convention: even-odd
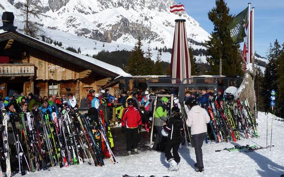
{"type": "MultiPolygon", "coordinates": [[[[1,34],[1,33],[4,33],[4,32],[7,32],[7,31],[4,31],[4,30],[0,29],[0,34],[1,34]]],[[[18,32],[18,31],[16,31],[16,32],[18,32]]],[[[23,34],[23,33],[21,33],[21,34],[23,34]]],[[[39,39],[30,37],[30,36],[28,36],[28,35],[26,35],[26,34],[23,34],[23,35],[27,36],[28,38],[34,39],[34,40],[36,40],[36,41],[38,41],[38,42],[40,42],[40,43],[43,43],[43,44],[45,44],[45,45],[51,46],[51,47],[53,47],[53,48],[56,48],[56,49],[58,49],[58,50],[60,50],[60,51],[63,51],[63,52],[65,52],[65,53],[68,53],[68,54],[70,54],[70,55],[73,55],[73,56],[75,56],[75,57],[77,57],[77,58],[80,58],[80,59],[82,59],[82,60],[85,60],[85,61],[87,61],[87,62],[89,62],[89,63],[91,63],[91,64],[94,64],[94,65],[98,66],[98,67],[101,67],[101,68],[104,68],[104,69],[106,69],[106,70],[109,70],[110,72],[116,73],[116,74],[119,75],[119,76],[131,76],[130,74],[126,73],[125,71],[123,71],[121,68],[119,68],[119,67],[117,67],[117,66],[114,66],[114,65],[105,63],[105,62],[103,62],[103,61],[100,61],[100,60],[98,60],[98,59],[95,59],[95,58],[92,58],[92,57],[89,57],[89,56],[81,55],[81,54],[79,54],[79,53],[75,53],[75,52],[72,52],[72,51],[68,51],[68,50],[62,49],[62,48],[60,48],[60,47],[58,47],[58,46],[54,46],[54,45],[52,45],[52,44],[43,42],[43,41],[41,41],[41,40],[39,40],[39,39]]]]}

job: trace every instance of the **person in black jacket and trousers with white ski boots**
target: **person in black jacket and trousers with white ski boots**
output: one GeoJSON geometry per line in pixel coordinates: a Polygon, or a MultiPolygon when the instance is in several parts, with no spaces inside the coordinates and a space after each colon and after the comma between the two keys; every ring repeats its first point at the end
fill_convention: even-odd
{"type": "Polygon", "coordinates": [[[165,148],[165,155],[170,164],[168,171],[176,171],[179,168],[180,156],[178,154],[178,148],[182,138],[181,131],[183,130],[183,122],[178,107],[173,107],[171,109],[170,120],[167,125],[165,124],[163,126],[163,128],[163,130],[168,132],[168,139],[165,148]],[[173,155],[170,152],[171,149],[173,155]]]}

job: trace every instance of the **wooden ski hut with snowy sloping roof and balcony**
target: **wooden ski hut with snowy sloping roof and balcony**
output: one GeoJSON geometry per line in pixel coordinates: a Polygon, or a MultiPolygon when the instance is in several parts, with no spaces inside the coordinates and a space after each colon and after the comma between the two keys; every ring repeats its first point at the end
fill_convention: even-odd
{"type": "Polygon", "coordinates": [[[117,76],[131,75],[17,31],[0,30],[0,95],[9,90],[59,97],[72,93],[80,102],[90,89],[98,92],[117,76]]]}

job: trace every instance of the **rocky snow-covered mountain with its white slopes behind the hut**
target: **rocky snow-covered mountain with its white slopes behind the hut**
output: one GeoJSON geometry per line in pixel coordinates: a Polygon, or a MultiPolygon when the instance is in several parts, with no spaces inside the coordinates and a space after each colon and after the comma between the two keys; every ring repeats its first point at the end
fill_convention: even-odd
{"type": "MultiPolygon", "coordinates": [[[[24,27],[20,2],[26,0],[0,0],[0,14],[14,12],[15,25],[24,27]]],[[[45,16],[31,17],[42,25],[44,35],[62,42],[62,47],[81,48],[82,54],[97,54],[99,51],[132,50],[138,36],[142,38],[143,50],[172,47],[174,20],[177,14],[170,13],[174,0],[29,0],[33,8],[45,16]],[[96,45],[95,45],[96,44],[96,45]]],[[[189,45],[193,49],[205,49],[201,42],[210,34],[187,13],[189,45]],[[196,41],[197,43],[195,43],[196,41]]],[[[0,22],[1,25],[1,22],[0,22]]],[[[153,50],[154,60],[158,51],[153,50]]],[[[206,56],[196,56],[198,62],[206,63],[206,56]]],[[[162,52],[162,60],[170,62],[170,53],[162,52]]]]}

